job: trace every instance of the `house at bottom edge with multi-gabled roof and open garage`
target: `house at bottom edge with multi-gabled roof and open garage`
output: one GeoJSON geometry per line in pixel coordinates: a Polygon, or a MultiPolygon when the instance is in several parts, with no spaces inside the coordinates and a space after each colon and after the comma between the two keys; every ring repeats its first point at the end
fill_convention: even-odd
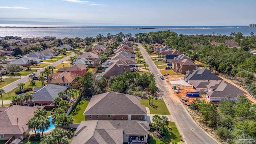
{"type": "Polygon", "coordinates": [[[149,130],[146,121],[86,120],[77,127],[71,144],[146,143],[149,130]]]}

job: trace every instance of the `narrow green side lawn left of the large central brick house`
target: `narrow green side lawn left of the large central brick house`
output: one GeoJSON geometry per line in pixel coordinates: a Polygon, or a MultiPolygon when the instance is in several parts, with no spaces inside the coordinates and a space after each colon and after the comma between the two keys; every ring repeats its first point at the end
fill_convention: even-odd
{"type": "Polygon", "coordinates": [[[70,115],[73,117],[73,123],[80,123],[84,120],[84,110],[86,109],[89,99],[80,99],[80,101],[76,104],[75,108],[70,112],[70,115]]]}

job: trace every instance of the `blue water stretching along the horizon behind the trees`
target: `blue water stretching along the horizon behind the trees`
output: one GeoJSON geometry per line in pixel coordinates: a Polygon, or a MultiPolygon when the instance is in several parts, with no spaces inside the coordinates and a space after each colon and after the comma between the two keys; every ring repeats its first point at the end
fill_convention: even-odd
{"type": "Polygon", "coordinates": [[[102,34],[106,37],[108,32],[113,35],[118,34],[119,32],[122,32],[123,34],[131,33],[132,36],[134,36],[138,33],[164,30],[170,30],[177,34],[184,35],[212,34],[213,32],[215,32],[215,35],[229,35],[231,32],[242,32],[244,36],[249,36],[251,32],[256,34],[256,28],[248,28],[248,26],[58,26],[0,24],[0,36],[19,36],[22,38],[44,36],[55,36],[56,38],[95,38],[98,34],[102,34]]]}

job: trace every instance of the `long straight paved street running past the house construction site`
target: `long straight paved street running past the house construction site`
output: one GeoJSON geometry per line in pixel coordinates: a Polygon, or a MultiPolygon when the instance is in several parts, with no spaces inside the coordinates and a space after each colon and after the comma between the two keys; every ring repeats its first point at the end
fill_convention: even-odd
{"type": "MultiPolygon", "coordinates": [[[[137,43],[138,44],[138,43],[137,43]]],[[[161,73],[156,68],[154,62],[150,59],[146,51],[142,48],[141,44],[138,44],[142,56],[146,60],[148,67],[152,74],[156,78],[156,83],[166,106],[171,113],[171,118],[176,123],[183,140],[187,144],[218,144],[214,138],[208,135],[204,130],[202,130],[196,122],[191,118],[190,114],[184,108],[182,102],[175,96],[174,92],[171,90],[170,86],[167,84],[166,80],[161,80],[161,73]]]]}

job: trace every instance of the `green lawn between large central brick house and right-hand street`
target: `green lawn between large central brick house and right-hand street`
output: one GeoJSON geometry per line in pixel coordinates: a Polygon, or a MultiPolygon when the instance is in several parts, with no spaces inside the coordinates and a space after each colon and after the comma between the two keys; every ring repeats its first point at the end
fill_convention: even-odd
{"type": "Polygon", "coordinates": [[[170,114],[165,102],[163,100],[153,100],[153,105],[154,106],[149,106],[148,105],[148,100],[147,99],[142,99],[140,100],[140,104],[145,105],[146,107],[149,108],[150,114],[165,114],[168,115],[170,114]]]}

